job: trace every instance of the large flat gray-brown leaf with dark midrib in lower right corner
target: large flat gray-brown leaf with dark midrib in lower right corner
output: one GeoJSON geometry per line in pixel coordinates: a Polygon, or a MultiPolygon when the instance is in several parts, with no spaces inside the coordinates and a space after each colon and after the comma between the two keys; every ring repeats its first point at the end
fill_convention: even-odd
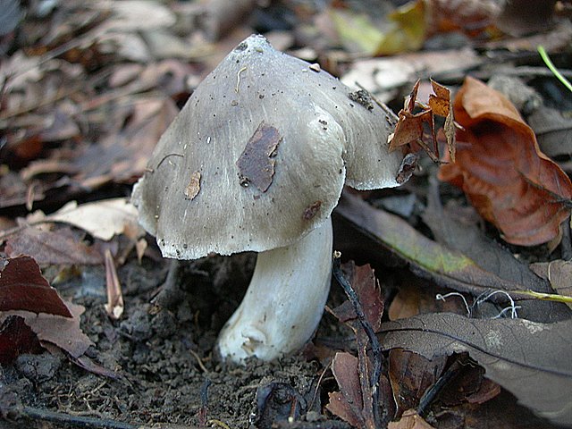
{"type": "Polygon", "coordinates": [[[388,322],[381,332],[386,332],[384,349],[407,349],[429,359],[467,351],[521,404],[559,425],[572,424],[570,320],[539,324],[442,313],[388,322]]]}

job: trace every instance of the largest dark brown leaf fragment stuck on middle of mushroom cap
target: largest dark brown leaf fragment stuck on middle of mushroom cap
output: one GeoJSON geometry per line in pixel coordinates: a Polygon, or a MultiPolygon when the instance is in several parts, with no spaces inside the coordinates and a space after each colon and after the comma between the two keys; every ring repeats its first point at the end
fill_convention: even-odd
{"type": "Polygon", "coordinates": [[[278,130],[266,125],[264,121],[260,122],[236,162],[241,186],[248,187],[252,184],[261,192],[270,188],[276,163],[273,158],[281,141],[278,130]]]}

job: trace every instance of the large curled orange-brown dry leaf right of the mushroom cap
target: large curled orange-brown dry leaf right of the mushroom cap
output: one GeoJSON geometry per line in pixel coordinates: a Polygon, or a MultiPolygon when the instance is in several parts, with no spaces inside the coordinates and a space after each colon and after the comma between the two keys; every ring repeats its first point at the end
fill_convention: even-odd
{"type": "Polygon", "coordinates": [[[510,243],[534,246],[559,235],[572,183],[539,149],[533,130],[499,92],[467,78],[455,97],[457,162],[439,177],[462,188],[510,243]]]}

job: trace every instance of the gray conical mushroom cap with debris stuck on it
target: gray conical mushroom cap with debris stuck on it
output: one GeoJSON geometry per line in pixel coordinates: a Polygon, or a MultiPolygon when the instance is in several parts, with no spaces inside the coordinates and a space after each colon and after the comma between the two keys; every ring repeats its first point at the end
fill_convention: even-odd
{"type": "Polygon", "coordinates": [[[397,186],[390,118],[365,94],[250,36],[201,82],[133,189],[164,257],[287,246],[332,214],[344,182],[397,186]]]}

